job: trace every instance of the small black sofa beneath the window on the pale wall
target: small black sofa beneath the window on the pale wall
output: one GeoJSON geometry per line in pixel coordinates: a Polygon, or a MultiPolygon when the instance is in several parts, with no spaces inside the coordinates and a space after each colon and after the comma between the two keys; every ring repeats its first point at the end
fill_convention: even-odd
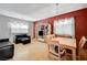
{"type": "Polygon", "coordinates": [[[31,43],[31,37],[26,34],[15,35],[15,44],[18,43],[22,43],[22,44],[31,43]]]}

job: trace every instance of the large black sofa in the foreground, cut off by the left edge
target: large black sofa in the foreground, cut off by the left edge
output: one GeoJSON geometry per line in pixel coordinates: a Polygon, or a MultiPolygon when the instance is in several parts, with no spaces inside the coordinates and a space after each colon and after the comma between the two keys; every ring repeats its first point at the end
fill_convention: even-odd
{"type": "Polygon", "coordinates": [[[12,58],[14,55],[14,45],[9,39],[0,39],[0,61],[12,58]]]}

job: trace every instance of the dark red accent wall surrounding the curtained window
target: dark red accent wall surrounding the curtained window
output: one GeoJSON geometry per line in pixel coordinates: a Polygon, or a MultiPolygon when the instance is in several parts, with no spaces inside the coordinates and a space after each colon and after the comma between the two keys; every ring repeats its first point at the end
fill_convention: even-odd
{"type": "Polygon", "coordinates": [[[68,12],[68,13],[64,13],[61,15],[47,18],[47,19],[40,20],[40,21],[51,23],[51,25],[52,25],[51,33],[53,33],[54,20],[70,18],[70,17],[75,18],[75,37],[77,40],[77,45],[78,45],[78,42],[83,35],[85,35],[87,37],[87,8],[80,9],[77,11],[73,11],[73,12],[68,12]]]}

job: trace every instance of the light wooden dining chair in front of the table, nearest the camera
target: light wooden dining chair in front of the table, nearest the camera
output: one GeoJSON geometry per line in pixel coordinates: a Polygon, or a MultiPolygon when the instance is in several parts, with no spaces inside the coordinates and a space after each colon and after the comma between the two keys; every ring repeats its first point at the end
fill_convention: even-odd
{"type": "Polygon", "coordinates": [[[50,59],[63,61],[65,59],[66,51],[59,45],[59,42],[51,41],[48,43],[50,59]]]}

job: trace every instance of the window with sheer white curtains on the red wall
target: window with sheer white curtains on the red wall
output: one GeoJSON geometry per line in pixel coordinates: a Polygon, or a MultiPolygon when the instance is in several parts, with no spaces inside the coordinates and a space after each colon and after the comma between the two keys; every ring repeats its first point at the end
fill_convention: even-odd
{"type": "Polygon", "coordinates": [[[54,33],[58,35],[75,36],[75,23],[74,18],[61,19],[54,21],[54,33]]]}

